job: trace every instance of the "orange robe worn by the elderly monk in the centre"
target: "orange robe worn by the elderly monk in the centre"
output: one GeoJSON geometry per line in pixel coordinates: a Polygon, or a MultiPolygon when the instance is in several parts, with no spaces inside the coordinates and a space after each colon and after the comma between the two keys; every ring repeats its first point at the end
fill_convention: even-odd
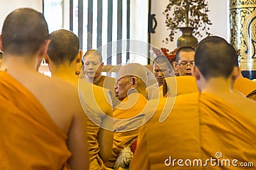
{"type": "MultiPolygon", "coordinates": [[[[140,115],[140,113],[143,111],[143,109],[147,104],[147,99],[142,94],[130,94],[129,97],[126,97],[122,101],[122,103],[120,103],[120,104],[125,103],[124,105],[128,106],[127,109],[125,109],[125,106],[123,106],[121,107],[123,109],[115,109],[113,111],[114,118],[118,118],[118,119],[131,118],[131,122],[127,120],[127,122],[129,122],[128,124],[125,124],[125,123],[118,124],[116,122],[114,123],[115,129],[118,129],[120,131],[114,132],[113,152],[112,152],[111,158],[105,164],[107,167],[110,167],[110,168],[113,168],[120,151],[123,150],[127,144],[131,143],[131,141],[138,138],[139,128],[134,129],[134,127],[136,127],[137,122],[138,124],[140,124],[140,120],[142,120],[143,117],[136,118],[136,115],[140,115]],[[134,101],[133,97],[136,97],[137,95],[138,95],[138,101],[134,104],[134,106],[130,107],[130,103],[127,103],[127,101],[129,101],[129,97],[131,101],[134,101]],[[135,126],[130,126],[131,124],[135,126]],[[134,129],[134,130],[129,131],[129,129],[134,129]]],[[[120,104],[118,106],[120,106],[120,104]]]]}

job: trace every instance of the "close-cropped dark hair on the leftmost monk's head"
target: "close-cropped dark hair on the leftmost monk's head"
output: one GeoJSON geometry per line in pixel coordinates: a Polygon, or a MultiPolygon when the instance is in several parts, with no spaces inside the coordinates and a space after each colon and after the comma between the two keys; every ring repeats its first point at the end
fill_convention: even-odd
{"type": "Polygon", "coordinates": [[[44,15],[30,8],[20,8],[4,20],[3,52],[12,55],[34,55],[48,36],[44,15]]]}

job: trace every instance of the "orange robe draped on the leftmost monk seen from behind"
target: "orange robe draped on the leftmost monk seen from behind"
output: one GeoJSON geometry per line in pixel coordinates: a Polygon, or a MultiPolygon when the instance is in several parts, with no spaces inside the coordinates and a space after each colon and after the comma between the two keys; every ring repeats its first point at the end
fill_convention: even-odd
{"type": "Polygon", "coordinates": [[[28,89],[0,72],[0,169],[70,169],[67,135],[28,89]]]}

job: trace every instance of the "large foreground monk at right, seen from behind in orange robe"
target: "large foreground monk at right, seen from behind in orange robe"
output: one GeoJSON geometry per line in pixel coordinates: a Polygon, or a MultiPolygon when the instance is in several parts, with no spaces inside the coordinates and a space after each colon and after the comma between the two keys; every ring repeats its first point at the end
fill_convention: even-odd
{"type": "Polygon", "coordinates": [[[232,92],[236,50],[220,37],[203,39],[193,74],[199,92],[160,99],[156,112],[147,108],[154,115],[141,128],[130,169],[255,168],[256,103],[232,92]]]}

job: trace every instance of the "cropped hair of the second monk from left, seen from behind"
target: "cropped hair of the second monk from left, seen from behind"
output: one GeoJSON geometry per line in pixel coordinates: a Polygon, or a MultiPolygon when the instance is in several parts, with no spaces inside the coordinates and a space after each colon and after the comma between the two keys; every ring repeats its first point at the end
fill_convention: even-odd
{"type": "Polygon", "coordinates": [[[56,64],[60,65],[63,61],[71,62],[76,59],[79,52],[79,38],[71,31],[60,29],[50,34],[47,54],[49,58],[56,64]]]}

